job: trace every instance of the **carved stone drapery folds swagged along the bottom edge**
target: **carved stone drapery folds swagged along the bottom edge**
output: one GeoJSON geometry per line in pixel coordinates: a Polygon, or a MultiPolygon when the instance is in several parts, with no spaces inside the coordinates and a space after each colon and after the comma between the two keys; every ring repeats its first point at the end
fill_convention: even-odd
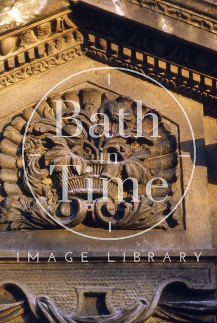
{"type": "MultiPolygon", "coordinates": [[[[160,295],[158,295],[158,298],[160,295]]],[[[145,298],[136,299],[134,304],[116,313],[108,315],[78,316],[64,314],[55,303],[45,295],[35,299],[35,313],[38,322],[45,323],[141,323],[147,321],[151,316],[165,320],[177,322],[215,322],[217,316],[217,301],[178,301],[162,302],[153,307],[154,303],[149,304],[145,298]]],[[[24,301],[0,306],[0,321],[8,322],[12,318],[18,317],[25,312],[24,301]]]]}

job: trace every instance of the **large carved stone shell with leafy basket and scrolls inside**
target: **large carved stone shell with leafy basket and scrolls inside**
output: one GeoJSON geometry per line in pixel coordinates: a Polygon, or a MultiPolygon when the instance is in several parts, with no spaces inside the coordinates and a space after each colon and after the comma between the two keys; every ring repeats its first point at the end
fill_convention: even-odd
{"type": "MultiPolygon", "coordinates": [[[[142,137],[137,134],[137,105],[131,98],[111,93],[101,93],[95,88],[84,88],[78,93],[67,91],[43,101],[31,119],[25,140],[25,168],[31,188],[42,206],[32,197],[23,172],[21,146],[27,121],[33,111],[28,107],[14,118],[4,131],[1,142],[0,177],[4,183],[6,197],[1,206],[1,223],[8,229],[55,229],[58,220],[68,227],[84,224],[91,227],[106,227],[111,222],[113,229],[143,229],[157,224],[176,203],[179,180],[177,137],[172,133],[169,122],[159,112],[158,135],[153,137],[153,119],[149,114],[143,118],[142,137]],[[80,113],[76,118],[82,123],[82,131],[75,133],[76,123],[72,118],[62,119],[63,137],[57,137],[56,102],[63,103],[62,117],[71,117],[76,101],[80,113]],[[118,111],[124,111],[124,134],[119,134],[118,111]],[[95,120],[91,116],[100,113],[95,120]],[[103,134],[103,115],[109,117],[110,137],[103,134]],[[98,124],[98,125],[96,125],[98,124]],[[101,124],[101,125],[100,125],[101,124]],[[89,130],[96,125],[94,138],[89,130]],[[103,134],[99,137],[100,134],[103,134]],[[113,134],[113,136],[111,136],[113,134]],[[71,137],[69,137],[71,136],[71,137]],[[108,162],[108,154],[111,160],[108,162]],[[112,156],[116,159],[112,160],[112,156]],[[54,171],[50,175],[50,165],[54,171]],[[68,167],[68,199],[62,200],[64,182],[62,167],[68,167]],[[80,171],[72,165],[78,165],[80,171]],[[161,181],[154,180],[152,197],[146,194],[146,185],[153,178],[163,178],[168,187],[158,188],[161,181]],[[107,178],[108,201],[102,200],[103,182],[107,178]],[[133,201],[131,180],[123,183],[123,201],[117,201],[118,183],[135,178],[138,181],[139,200],[133,201]],[[92,181],[93,200],[87,201],[87,181],[92,181]],[[162,200],[162,197],[168,197],[162,200]]],[[[143,106],[143,115],[150,110],[143,106]]],[[[179,222],[177,214],[170,221],[164,221],[157,228],[175,227],[179,222]],[[172,219],[172,221],[171,221],[172,219]]]]}

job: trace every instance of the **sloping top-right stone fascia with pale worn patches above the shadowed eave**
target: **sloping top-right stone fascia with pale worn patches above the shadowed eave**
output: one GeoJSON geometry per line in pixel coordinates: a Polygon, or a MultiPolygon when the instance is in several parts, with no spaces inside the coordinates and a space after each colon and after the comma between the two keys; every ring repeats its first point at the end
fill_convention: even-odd
{"type": "Polygon", "coordinates": [[[159,0],[120,0],[108,2],[106,0],[80,0],[78,3],[96,6],[168,35],[175,35],[199,46],[216,50],[217,18],[216,5],[213,2],[183,2],[179,0],[176,2],[161,2],[159,0]],[[175,4],[175,7],[171,6],[171,3],[175,4]],[[141,7],[138,7],[138,5],[141,7]],[[183,12],[184,8],[187,8],[187,12],[185,10],[183,12]],[[207,11],[208,15],[204,17],[207,11]],[[196,13],[198,13],[198,16],[195,16],[196,13]],[[209,31],[213,31],[213,33],[209,31]]]}

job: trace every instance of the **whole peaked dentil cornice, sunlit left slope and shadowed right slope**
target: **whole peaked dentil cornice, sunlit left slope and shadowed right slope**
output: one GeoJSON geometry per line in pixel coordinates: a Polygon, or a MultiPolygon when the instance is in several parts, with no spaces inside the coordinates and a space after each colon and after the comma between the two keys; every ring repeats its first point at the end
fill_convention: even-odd
{"type": "Polygon", "coordinates": [[[216,106],[216,59],[203,48],[75,6],[0,38],[0,88],[89,55],[216,106]]]}

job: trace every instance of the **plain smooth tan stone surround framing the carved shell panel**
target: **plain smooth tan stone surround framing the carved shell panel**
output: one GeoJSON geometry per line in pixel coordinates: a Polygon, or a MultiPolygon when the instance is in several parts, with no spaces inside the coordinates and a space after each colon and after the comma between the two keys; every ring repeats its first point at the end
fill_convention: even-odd
{"type": "MultiPolygon", "coordinates": [[[[78,72],[80,70],[80,66],[82,64],[83,69],[93,68],[93,67],[103,67],[102,64],[99,64],[97,62],[93,62],[92,60],[88,58],[79,58],[79,64],[76,62],[69,62],[65,65],[65,69],[63,69],[61,66],[59,66],[56,70],[50,71],[50,73],[45,73],[40,76],[38,76],[35,79],[26,80],[23,85],[17,84],[14,86],[14,95],[17,97],[16,101],[14,101],[12,98],[10,100],[10,108],[11,111],[13,109],[20,109],[22,110],[22,104],[26,104],[32,101],[36,101],[40,99],[41,91],[38,87],[38,82],[40,89],[43,89],[43,92],[49,90],[49,88],[53,85],[55,85],[58,81],[64,78],[64,76],[68,76],[68,71],[73,71],[74,73],[78,72]],[[29,92],[26,88],[26,84],[28,82],[28,86],[31,88],[31,92],[29,92]],[[19,93],[20,91],[24,93],[25,96],[20,97],[19,93]],[[18,108],[19,106],[19,108],[18,108]]],[[[170,99],[168,94],[163,90],[160,89],[158,86],[151,84],[149,82],[146,82],[142,79],[135,78],[133,75],[127,75],[121,71],[115,71],[111,70],[111,84],[108,87],[108,71],[96,71],[96,72],[90,72],[87,74],[79,75],[75,79],[72,78],[71,80],[67,81],[67,85],[62,84],[60,85],[59,90],[65,91],[65,88],[73,88],[76,90],[76,92],[79,92],[80,89],[83,87],[90,87],[91,84],[95,88],[96,87],[103,87],[107,88],[109,91],[116,92],[120,95],[127,95],[129,97],[133,97],[135,99],[142,99],[142,101],[149,107],[157,109],[159,112],[162,113],[162,115],[172,120],[173,123],[179,124],[179,127],[181,129],[180,131],[180,140],[181,140],[181,154],[191,154],[193,153],[193,145],[192,145],[192,137],[190,134],[190,130],[188,127],[188,124],[186,122],[186,119],[183,118],[183,114],[181,110],[178,110],[177,103],[170,99]],[[120,82],[121,79],[121,82],[120,82]],[[91,80],[91,83],[87,81],[91,80]],[[83,83],[85,82],[85,83],[83,83]],[[77,85],[80,84],[80,85],[77,85]],[[77,85],[77,86],[76,86],[77,85]],[[143,90],[141,90],[143,89],[143,90]],[[169,100],[169,104],[168,104],[169,100]],[[171,110],[176,112],[171,115],[171,110]]],[[[8,97],[8,91],[9,89],[6,89],[2,93],[4,94],[4,97],[8,97]]],[[[3,95],[2,94],[2,95],[3,95]]],[[[196,138],[196,145],[198,147],[197,149],[197,166],[195,170],[195,175],[193,177],[192,185],[190,186],[190,190],[188,194],[185,197],[186,203],[185,203],[185,222],[186,222],[186,230],[169,230],[169,231],[162,231],[161,237],[162,240],[158,240],[157,232],[147,232],[144,235],[141,235],[140,237],[135,237],[131,239],[131,243],[127,244],[127,248],[137,248],[136,245],[139,243],[139,247],[143,247],[143,249],[149,250],[150,249],[150,243],[152,245],[153,250],[157,250],[160,247],[163,249],[171,249],[171,246],[174,247],[176,245],[176,248],[179,249],[194,249],[194,248],[211,248],[211,234],[210,234],[210,224],[209,224],[209,205],[206,203],[208,199],[208,191],[207,191],[207,175],[206,175],[206,169],[204,168],[205,165],[205,156],[204,156],[204,144],[201,139],[201,134],[203,133],[203,119],[202,119],[202,113],[203,108],[200,103],[196,103],[193,100],[189,100],[187,98],[184,98],[181,95],[175,94],[176,97],[180,100],[182,105],[185,107],[186,113],[190,118],[190,121],[192,123],[194,134],[196,138]],[[197,116],[197,118],[195,117],[197,116]],[[194,187],[197,187],[197,191],[195,191],[194,187]],[[200,195],[200,202],[198,202],[198,194],[200,195]],[[198,220],[198,216],[200,215],[200,221],[198,220]],[[139,242],[138,242],[139,238],[139,242]],[[163,242],[162,242],[163,241],[163,242]]],[[[2,96],[3,97],[3,96],[2,96]]],[[[4,100],[3,100],[4,101],[4,100]]],[[[6,104],[6,101],[5,101],[6,104]]],[[[8,106],[6,104],[5,106],[8,106]]],[[[6,108],[5,108],[6,109],[6,108]]],[[[4,109],[3,109],[4,110],[4,109]]],[[[14,113],[16,115],[16,113],[14,113]]],[[[6,119],[5,122],[10,122],[10,118],[6,119]]],[[[187,187],[189,178],[191,176],[191,170],[192,170],[192,159],[189,157],[183,157],[182,158],[182,165],[184,172],[182,173],[183,180],[184,180],[184,188],[187,187]]],[[[97,235],[100,236],[102,232],[100,233],[97,229],[94,228],[77,228],[81,233],[84,234],[90,234],[90,235],[97,235]]],[[[6,232],[4,236],[6,237],[9,234],[9,232],[6,232]]],[[[115,237],[115,234],[118,235],[126,235],[124,231],[118,231],[118,233],[113,232],[109,233],[108,229],[103,230],[103,237],[115,237]]],[[[133,234],[133,231],[130,231],[129,234],[133,234]]],[[[23,237],[26,236],[26,234],[23,234],[21,232],[18,232],[18,235],[20,235],[19,241],[21,242],[23,237]]],[[[37,246],[37,243],[40,241],[40,236],[43,234],[38,233],[28,233],[29,239],[31,241],[31,245],[34,246],[34,250],[37,246]]],[[[70,241],[70,244],[75,244],[76,248],[79,246],[79,243],[77,242],[77,237],[71,234],[70,232],[56,232],[55,236],[58,236],[58,239],[52,239],[52,232],[47,233],[46,236],[41,240],[41,248],[44,249],[43,245],[44,243],[49,243],[49,245],[52,245],[52,243],[57,247],[64,249],[64,240],[70,241]],[[63,238],[65,237],[65,238],[63,238]],[[51,241],[51,240],[53,241],[51,241]],[[49,242],[50,241],[50,242],[49,242]],[[59,247],[58,247],[59,244],[59,247]]],[[[15,236],[14,236],[15,237],[15,236]]],[[[117,236],[116,236],[117,237],[117,236]]],[[[86,245],[86,239],[79,238],[81,240],[80,243],[85,248],[88,248],[91,250],[92,248],[97,248],[97,252],[101,252],[101,246],[97,242],[94,242],[90,240],[88,242],[88,245],[86,245]]],[[[17,238],[15,239],[17,240],[17,238]]],[[[15,241],[14,241],[15,243],[15,241]]],[[[11,244],[14,243],[11,241],[11,244]]],[[[40,243],[40,242],[39,242],[40,243]]],[[[119,241],[118,246],[120,249],[125,249],[125,243],[124,241],[119,241]]],[[[21,242],[21,245],[23,248],[24,244],[21,242]]],[[[116,244],[114,244],[114,249],[116,244]]],[[[110,243],[105,243],[105,250],[109,250],[111,247],[110,243]]],[[[103,253],[103,252],[102,252],[103,253]]]]}

